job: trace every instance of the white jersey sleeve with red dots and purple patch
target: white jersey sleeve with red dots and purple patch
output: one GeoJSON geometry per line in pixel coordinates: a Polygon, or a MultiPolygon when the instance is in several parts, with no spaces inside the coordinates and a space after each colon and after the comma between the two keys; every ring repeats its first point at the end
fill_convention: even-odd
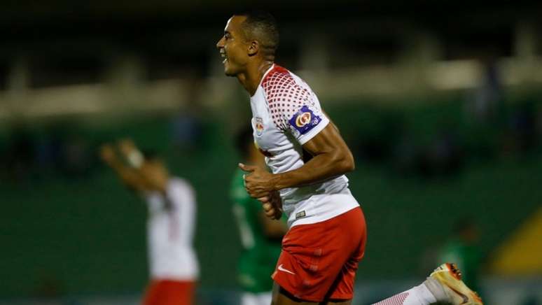
{"type": "Polygon", "coordinates": [[[272,73],[262,84],[271,118],[303,145],[321,132],[329,119],[310,87],[300,85],[288,71],[272,73]]]}

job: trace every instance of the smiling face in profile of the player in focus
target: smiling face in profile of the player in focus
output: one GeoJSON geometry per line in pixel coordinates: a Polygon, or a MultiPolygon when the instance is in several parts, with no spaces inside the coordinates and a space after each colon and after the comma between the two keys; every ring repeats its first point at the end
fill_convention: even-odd
{"type": "Polygon", "coordinates": [[[216,48],[223,57],[224,73],[227,76],[237,76],[244,72],[249,61],[248,43],[244,40],[241,24],[245,16],[233,16],[228,20],[224,36],[216,43],[216,48]]]}

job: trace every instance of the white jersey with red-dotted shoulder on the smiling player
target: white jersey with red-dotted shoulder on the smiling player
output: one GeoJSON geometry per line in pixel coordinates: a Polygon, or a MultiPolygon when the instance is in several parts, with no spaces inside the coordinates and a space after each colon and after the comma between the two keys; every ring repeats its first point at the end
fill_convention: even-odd
{"type": "MultiPolygon", "coordinates": [[[[254,142],[272,173],[303,166],[303,144],[329,124],[309,85],[274,64],[250,101],[254,142]]],[[[344,175],[280,194],[289,227],[328,220],[359,206],[344,175]]]]}

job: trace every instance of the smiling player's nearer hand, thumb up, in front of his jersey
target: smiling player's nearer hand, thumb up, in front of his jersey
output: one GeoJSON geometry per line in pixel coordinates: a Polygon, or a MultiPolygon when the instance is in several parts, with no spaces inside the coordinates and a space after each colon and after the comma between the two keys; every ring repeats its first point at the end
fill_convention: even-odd
{"type": "Polygon", "coordinates": [[[262,169],[259,166],[245,165],[239,163],[239,168],[246,171],[244,174],[244,188],[252,198],[261,198],[270,195],[275,191],[277,176],[262,169]]]}

